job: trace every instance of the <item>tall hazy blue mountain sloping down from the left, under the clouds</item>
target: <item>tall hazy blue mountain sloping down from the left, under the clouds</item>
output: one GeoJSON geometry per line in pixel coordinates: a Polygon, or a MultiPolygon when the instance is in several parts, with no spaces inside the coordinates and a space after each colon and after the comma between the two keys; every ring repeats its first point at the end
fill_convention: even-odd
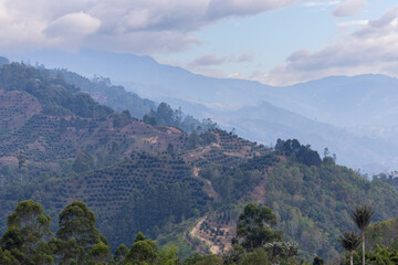
{"type": "Polygon", "coordinates": [[[88,76],[107,76],[115,84],[123,84],[140,96],[157,100],[175,97],[191,103],[242,106],[259,99],[254,92],[264,87],[271,88],[258,82],[197,75],[181,67],[159,64],[149,56],[133,54],[95,51],[75,54],[42,52],[25,55],[22,60],[31,64],[43,63],[46,67],[67,67],[88,76]],[[248,93],[249,91],[252,92],[248,93]]]}

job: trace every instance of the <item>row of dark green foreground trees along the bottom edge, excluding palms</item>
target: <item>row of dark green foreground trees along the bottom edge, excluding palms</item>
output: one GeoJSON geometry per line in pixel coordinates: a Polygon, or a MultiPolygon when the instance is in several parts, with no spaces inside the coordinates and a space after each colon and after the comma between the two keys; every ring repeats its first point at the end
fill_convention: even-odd
{"type": "Polygon", "coordinates": [[[21,201],[8,215],[8,229],[0,240],[0,264],[154,264],[154,265],[271,265],[303,264],[298,245],[284,242],[274,231],[276,216],[266,206],[248,204],[239,216],[233,247],[221,256],[196,253],[182,261],[176,246],[159,250],[156,242],[138,232],[132,246],[121,244],[112,254],[106,237],[96,229],[95,215],[87,205],[75,201],[59,216],[51,233],[51,218],[32,200],[21,201]]]}

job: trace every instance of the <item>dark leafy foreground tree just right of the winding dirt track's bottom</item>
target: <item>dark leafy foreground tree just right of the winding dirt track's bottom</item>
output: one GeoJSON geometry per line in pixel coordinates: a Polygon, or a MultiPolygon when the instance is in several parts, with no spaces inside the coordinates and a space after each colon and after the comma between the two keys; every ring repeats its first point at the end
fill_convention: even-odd
{"type": "Polygon", "coordinates": [[[232,243],[240,243],[245,250],[262,247],[268,242],[281,241],[282,231],[272,231],[276,216],[268,206],[259,208],[254,203],[245,205],[239,215],[237,237],[232,243]]]}

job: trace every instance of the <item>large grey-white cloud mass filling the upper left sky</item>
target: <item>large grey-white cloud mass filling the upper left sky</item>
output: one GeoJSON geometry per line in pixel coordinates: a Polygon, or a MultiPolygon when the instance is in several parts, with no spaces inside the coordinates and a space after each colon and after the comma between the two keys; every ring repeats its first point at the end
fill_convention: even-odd
{"type": "Polygon", "coordinates": [[[0,49],[101,49],[153,54],[199,44],[193,33],[294,0],[0,0],[0,49]]]}

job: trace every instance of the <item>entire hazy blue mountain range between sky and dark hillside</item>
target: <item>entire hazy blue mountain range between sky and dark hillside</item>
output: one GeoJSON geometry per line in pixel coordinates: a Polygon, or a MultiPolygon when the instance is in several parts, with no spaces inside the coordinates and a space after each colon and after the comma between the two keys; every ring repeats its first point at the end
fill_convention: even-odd
{"type": "Polygon", "coordinates": [[[298,138],[362,172],[398,168],[398,80],[383,75],[331,76],[286,87],[213,78],[157,63],[149,56],[81,51],[40,52],[23,60],[107,76],[139,96],[167,102],[197,118],[264,144],[298,138]]]}

